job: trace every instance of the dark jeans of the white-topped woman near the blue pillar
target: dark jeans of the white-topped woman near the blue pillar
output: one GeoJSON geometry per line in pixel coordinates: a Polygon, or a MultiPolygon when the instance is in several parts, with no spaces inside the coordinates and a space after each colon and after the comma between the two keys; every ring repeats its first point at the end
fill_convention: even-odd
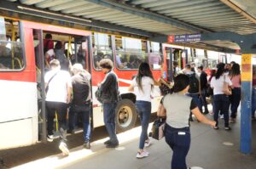
{"type": "Polygon", "coordinates": [[[213,102],[214,102],[213,104],[214,121],[216,121],[218,125],[218,111],[220,111],[220,114],[224,115],[225,127],[229,127],[229,108],[230,108],[229,96],[225,94],[213,95],[213,102]]]}

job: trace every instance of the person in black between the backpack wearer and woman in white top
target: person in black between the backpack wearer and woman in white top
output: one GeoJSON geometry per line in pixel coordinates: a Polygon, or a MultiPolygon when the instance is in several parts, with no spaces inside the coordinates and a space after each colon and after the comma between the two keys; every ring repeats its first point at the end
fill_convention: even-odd
{"type": "Polygon", "coordinates": [[[203,71],[203,66],[198,66],[197,71],[200,77],[200,88],[201,88],[201,93],[200,93],[200,104],[199,104],[199,109],[202,111],[202,107],[205,107],[205,111],[203,114],[207,115],[209,113],[208,108],[207,108],[207,99],[206,99],[206,93],[207,93],[207,73],[203,71]]]}

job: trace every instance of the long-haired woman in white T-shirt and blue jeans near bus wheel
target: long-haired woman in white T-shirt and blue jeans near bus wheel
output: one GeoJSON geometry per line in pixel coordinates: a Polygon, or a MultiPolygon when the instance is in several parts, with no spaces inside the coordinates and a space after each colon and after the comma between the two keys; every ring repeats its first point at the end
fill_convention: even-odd
{"type": "Polygon", "coordinates": [[[154,85],[160,85],[156,82],[150,70],[148,63],[143,62],[139,65],[137,77],[135,77],[129,87],[129,91],[136,94],[137,113],[140,116],[142,124],[142,132],[140,136],[139,149],[137,151],[137,158],[147,157],[149,153],[144,149],[144,146],[149,146],[148,139],[148,123],[151,114],[151,97],[150,94],[154,89],[154,85]]]}

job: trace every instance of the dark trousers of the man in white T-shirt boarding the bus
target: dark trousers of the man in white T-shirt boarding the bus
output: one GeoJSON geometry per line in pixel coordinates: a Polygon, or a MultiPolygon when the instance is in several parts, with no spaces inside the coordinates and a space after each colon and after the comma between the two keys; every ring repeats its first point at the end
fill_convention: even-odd
{"type": "Polygon", "coordinates": [[[54,134],[54,118],[55,112],[58,117],[58,129],[61,141],[67,141],[67,104],[61,102],[46,101],[47,110],[47,132],[48,135],[54,134]]]}

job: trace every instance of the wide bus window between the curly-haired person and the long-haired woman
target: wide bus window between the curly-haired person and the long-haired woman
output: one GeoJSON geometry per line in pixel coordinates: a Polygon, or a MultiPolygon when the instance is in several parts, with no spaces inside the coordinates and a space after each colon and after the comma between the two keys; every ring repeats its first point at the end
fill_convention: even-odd
{"type": "Polygon", "coordinates": [[[148,62],[147,42],[130,37],[115,37],[116,67],[119,70],[138,69],[148,62]]]}

